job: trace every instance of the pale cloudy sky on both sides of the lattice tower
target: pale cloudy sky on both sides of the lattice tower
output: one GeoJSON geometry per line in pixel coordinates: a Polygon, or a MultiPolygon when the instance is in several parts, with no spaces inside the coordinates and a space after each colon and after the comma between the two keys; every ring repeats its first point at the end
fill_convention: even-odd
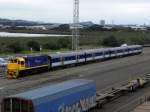
{"type": "MultiPolygon", "coordinates": [[[[71,23],[73,0],[0,0],[0,18],[71,23]]],[[[80,21],[150,24],[150,0],[80,0],[80,21]]]]}

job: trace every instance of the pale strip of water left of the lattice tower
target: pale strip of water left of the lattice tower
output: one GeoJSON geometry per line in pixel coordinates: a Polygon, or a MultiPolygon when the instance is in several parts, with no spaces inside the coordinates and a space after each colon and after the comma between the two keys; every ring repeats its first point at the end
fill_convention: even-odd
{"type": "Polygon", "coordinates": [[[66,37],[66,36],[71,36],[71,35],[0,32],[0,37],[66,37]]]}

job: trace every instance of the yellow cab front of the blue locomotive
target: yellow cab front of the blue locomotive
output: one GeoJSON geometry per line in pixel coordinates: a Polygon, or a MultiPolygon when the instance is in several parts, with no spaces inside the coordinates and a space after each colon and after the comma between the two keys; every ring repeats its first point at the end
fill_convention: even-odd
{"type": "Polygon", "coordinates": [[[7,77],[16,79],[19,77],[19,71],[21,70],[25,70],[24,58],[16,57],[11,59],[7,65],[7,77]]]}

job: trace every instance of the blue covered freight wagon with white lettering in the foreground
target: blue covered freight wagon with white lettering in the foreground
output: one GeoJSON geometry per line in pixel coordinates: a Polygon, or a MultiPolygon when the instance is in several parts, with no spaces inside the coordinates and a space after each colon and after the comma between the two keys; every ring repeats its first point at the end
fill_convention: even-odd
{"type": "Polygon", "coordinates": [[[94,81],[76,79],[6,97],[2,112],[84,112],[95,106],[94,81]]]}

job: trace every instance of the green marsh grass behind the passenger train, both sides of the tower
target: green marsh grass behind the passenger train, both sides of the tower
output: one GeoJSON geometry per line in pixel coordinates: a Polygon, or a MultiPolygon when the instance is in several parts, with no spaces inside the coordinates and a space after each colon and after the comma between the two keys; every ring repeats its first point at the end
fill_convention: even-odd
{"type": "MultiPolygon", "coordinates": [[[[115,36],[118,40],[123,40],[127,44],[150,44],[150,32],[139,32],[139,31],[89,31],[89,32],[80,32],[80,47],[81,48],[95,48],[101,47],[101,43],[104,38],[108,36],[115,36]]],[[[18,41],[22,46],[26,46],[29,41],[37,41],[40,45],[47,43],[55,43],[60,38],[68,37],[0,37],[0,45],[9,45],[12,42],[18,41]]],[[[68,38],[69,39],[69,38],[68,38]]],[[[71,38],[69,39],[71,43],[71,38]]],[[[69,44],[69,43],[68,43],[69,44]]],[[[67,48],[50,50],[44,49],[43,52],[66,52],[69,51],[67,48]]],[[[43,53],[42,52],[42,53],[43,53]]],[[[28,50],[22,51],[23,54],[30,54],[28,50]]],[[[39,53],[39,52],[33,52],[39,53]]],[[[5,52],[1,55],[13,54],[5,52]]]]}

